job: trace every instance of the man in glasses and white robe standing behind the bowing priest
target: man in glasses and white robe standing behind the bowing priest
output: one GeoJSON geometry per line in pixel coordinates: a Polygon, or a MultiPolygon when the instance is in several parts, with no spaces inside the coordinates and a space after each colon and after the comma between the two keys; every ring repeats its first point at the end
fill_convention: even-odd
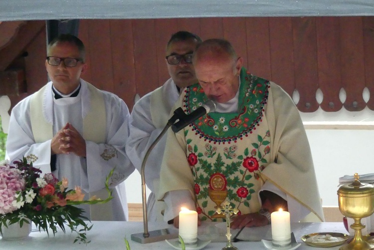
{"type": "MultiPolygon", "coordinates": [[[[126,145],[126,153],[135,168],[141,171],[144,156],[164,129],[170,113],[181,91],[197,83],[192,66],[192,53],[201,39],[190,32],[179,31],[172,35],[166,46],[166,65],[171,78],[165,84],[143,96],[135,103],[130,117],[130,137],[126,145]]],[[[145,167],[145,179],[152,191],[148,198],[148,221],[163,221],[164,203],[157,202],[162,157],[165,150],[164,136],[151,151],[145,167]]]]}

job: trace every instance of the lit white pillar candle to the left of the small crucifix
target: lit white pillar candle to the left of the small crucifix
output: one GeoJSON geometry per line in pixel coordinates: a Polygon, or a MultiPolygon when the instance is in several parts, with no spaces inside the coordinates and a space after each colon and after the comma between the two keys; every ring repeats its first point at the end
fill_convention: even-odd
{"type": "Polygon", "coordinates": [[[179,236],[185,244],[197,242],[197,212],[182,208],[179,213],[179,236]]]}

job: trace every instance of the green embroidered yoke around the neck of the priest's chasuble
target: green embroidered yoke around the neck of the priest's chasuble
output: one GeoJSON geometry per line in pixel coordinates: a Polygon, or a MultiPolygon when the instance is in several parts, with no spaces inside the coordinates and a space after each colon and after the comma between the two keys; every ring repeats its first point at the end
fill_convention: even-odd
{"type": "MultiPolygon", "coordinates": [[[[244,68],[240,73],[240,81],[238,113],[226,113],[222,117],[220,113],[211,112],[197,119],[190,126],[201,138],[218,144],[235,141],[259,125],[267,103],[269,82],[249,74],[244,68]]],[[[198,84],[185,91],[184,107],[187,113],[193,112],[207,100],[198,84]]]]}

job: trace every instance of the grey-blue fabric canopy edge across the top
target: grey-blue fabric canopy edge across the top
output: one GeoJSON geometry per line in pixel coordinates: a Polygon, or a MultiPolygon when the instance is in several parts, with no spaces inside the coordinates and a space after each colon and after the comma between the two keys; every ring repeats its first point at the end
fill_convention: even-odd
{"type": "Polygon", "coordinates": [[[0,0],[0,21],[374,15],[374,0],[0,0]]]}

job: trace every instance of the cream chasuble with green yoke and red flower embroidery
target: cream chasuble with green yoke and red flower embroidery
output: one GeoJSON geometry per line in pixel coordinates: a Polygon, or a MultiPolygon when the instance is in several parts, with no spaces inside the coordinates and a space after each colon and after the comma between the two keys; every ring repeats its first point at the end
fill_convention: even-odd
{"type": "MultiPolygon", "coordinates": [[[[257,193],[270,181],[322,221],[298,110],[279,86],[244,68],[240,81],[237,113],[209,113],[176,134],[169,131],[158,198],[189,190],[200,219],[216,221],[222,217],[216,208],[225,200],[240,214],[257,212],[257,193]]],[[[191,113],[206,99],[195,84],[185,89],[179,106],[191,113]]]]}

